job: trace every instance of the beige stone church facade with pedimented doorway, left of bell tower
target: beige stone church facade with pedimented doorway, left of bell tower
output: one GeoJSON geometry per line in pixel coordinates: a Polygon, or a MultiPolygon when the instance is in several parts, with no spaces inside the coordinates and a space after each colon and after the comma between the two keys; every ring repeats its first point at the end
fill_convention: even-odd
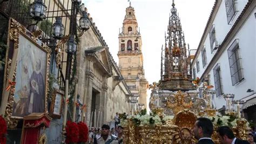
{"type": "Polygon", "coordinates": [[[130,112],[131,92],[92,18],[91,23],[91,28],[80,37],[77,51],[78,94],[81,101],[86,97],[87,124],[95,110],[97,115],[99,111],[103,113],[102,124],[107,124],[116,112],[130,112]]]}

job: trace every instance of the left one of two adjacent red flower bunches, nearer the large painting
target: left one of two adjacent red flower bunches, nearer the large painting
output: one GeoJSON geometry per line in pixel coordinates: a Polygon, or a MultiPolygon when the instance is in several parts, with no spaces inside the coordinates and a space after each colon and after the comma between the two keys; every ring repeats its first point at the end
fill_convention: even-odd
{"type": "Polygon", "coordinates": [[[78,142],[79,128],[76,122],[66,122],[66,143],[78,142]]]}

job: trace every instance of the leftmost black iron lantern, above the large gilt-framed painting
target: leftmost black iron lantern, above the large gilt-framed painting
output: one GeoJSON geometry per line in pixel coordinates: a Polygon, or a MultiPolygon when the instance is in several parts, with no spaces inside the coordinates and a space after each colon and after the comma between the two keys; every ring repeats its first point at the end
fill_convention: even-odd
{"type": "Polygon", "coordinates": [[[47,10],[47,7],[43,3],[42,0],[35,0],[32,4],[30,4],[30,16],[35,20],[43,20],[45,19],[44,12],[47,10]]]}

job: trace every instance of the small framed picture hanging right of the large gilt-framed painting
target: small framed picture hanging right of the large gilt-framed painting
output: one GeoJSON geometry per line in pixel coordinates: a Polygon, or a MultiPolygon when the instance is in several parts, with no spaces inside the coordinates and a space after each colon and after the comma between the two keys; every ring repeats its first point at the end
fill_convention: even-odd
{"type": "Polygon", "coordinates": [[[60,119],[60,117],[62,116],[63,101],[64,101],[64,92],[57,90],[55,88],[55,92],[52,95],[52,102],[51,102],[51,107],[49,112],[52,118],[60,119]]]}

